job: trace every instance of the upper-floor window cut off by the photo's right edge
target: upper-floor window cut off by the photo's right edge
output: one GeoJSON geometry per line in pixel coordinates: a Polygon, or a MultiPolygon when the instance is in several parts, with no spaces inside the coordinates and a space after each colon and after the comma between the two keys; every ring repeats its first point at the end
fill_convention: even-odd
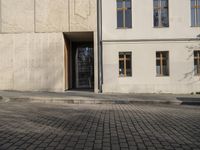
{"type": "Polygon", "coordinates": [[[191,25],[200,27],[200,0],[191,0],[191,25]]]}

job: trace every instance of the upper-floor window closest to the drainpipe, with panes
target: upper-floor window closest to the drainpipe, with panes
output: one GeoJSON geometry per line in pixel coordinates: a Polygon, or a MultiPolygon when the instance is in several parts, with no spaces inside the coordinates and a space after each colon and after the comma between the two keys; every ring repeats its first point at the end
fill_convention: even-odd
{"type": "Polygon", "coordinates": [[[117,0],[117,28],[132,27],[131,0],[117,0]]]}

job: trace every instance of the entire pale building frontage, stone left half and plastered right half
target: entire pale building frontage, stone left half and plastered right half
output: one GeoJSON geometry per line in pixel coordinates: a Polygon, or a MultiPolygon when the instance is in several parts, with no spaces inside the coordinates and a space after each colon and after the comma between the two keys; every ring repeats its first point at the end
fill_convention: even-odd
{"type": "Polygon", "coordinates": [[[200,0],[0,6],[0,90],[200,91],[200,0]]]}

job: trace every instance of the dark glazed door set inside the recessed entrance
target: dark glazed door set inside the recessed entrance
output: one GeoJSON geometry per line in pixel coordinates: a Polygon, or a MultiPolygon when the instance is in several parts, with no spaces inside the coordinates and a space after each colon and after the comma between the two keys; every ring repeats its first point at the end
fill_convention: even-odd
{"type": "Polygon", "coordinates": [[[92,42],[72,42],[72,89],[91,91],[94,89],[94,55],[92,42]],[[82,54],[79,54],[79,50],[82,54]],[[89,52],[85,55],[85,53],[89,52]],[[79,55],[79,56],[77,56],[79,55]],[[79,58],[77,58],[79,57],[79,58]],[[81,57],[83,57],[81,59],[81,57]],[[78,60],[77,60],[78,59],[78,60]],[[81,59],[81,61],[80,61],[81,59]],[[77,83],[81,82],[81,83],[77,83]]]}

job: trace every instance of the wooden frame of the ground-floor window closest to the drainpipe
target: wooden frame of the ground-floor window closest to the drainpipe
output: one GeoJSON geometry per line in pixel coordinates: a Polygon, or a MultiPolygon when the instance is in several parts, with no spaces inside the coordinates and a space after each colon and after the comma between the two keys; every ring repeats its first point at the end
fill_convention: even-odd
{"type": "Polygon", "coordinates": [[[132,74],[133,74],[133,71],[132,71],[132,52],[131,51],[125,51],[125,52],[119,52],[118,53],[118,74],[119,74],[119,77],[120,78],[126,78],[126,77],[132,77],[132,74]],[[120,58],[120,55],[123,55],[124,57],[123,58],[120,58]],[[130,56],[130,64],[131,64],[131,66],[130,66],[130,75],[127,75],[127,56],[130,56]],[[122,76],[122,75],[120,75],[120,61],[123,61],[123,63],[124,63],[124,75],[122,76]]]}

